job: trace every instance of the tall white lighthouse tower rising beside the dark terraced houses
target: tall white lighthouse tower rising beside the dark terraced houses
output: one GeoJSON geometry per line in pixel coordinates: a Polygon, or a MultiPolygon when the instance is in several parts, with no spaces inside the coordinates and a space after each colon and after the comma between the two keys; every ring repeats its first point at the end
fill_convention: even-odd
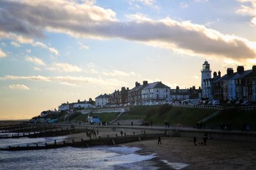
{"type": "Polygon", "coordinates": [[[202,87],[202,97],[207,98],[207,94],[209,94],[208,85],[204,85],[206,83],[204,80],[211,79],[211,69],[210,64],[205,60],[203,64],[203,69],[201,70],[201,87],[202,87]]]}

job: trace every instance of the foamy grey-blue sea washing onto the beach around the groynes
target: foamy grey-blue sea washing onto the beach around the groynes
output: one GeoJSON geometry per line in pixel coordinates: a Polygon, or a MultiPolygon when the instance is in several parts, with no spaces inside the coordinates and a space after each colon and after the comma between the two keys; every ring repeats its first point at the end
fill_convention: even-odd
{"type": "MultiPolygon", "coordinates": [[[[0,139],[0,147],[44,145],[67,136],[53,138],[0,139]]],[[[94,146],[88,148],[63,147],[47,150],[0,151],[0,169],[161,169],[155,153],[143,153],[141,148],[94,146]]],[[[161,160],[167,169],[188,166],[161,160]]],[[[166,169],[166,168],[164,168],[166,169]]]]}

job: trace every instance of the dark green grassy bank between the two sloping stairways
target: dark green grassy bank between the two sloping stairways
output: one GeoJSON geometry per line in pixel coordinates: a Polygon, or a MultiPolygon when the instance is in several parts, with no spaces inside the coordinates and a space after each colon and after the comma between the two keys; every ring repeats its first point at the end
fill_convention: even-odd
{"type": "Polygon", "coordinates": [[[173,124],[183,124],[192,127],[196,121],[207,117],[215,110],[202,110],[197,108],[180,108],[167,104],[158,106],[136,106],[125,113],[124,120],[142,119],[153,122],[154,125],[164,125],[164,121],[173,124]]]}

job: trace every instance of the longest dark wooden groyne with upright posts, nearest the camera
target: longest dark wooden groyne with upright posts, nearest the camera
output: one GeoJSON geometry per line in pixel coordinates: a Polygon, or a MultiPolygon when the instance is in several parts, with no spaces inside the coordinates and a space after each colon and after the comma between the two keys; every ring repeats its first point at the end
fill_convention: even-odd
{"type": "Polygon", "coordinates": [[[8,148],[0,148],[5,151],[19,151],[19,150],[45,150],[53,148],[61,148],[66,146],[71,147],[89,147],[89,146],[101,146],[101,145],[119,145],[123,143],[129,143],[134,141],[141,141],[146,139],[156,139],[158,136],[165,136],[165,134],[140,134],[140,135],[129,135],[129,136],[116,136],[115,138],[99,138],[84,140],[83,138],[79,141],[61,141],[57,143],[45,143],[45,145],[33,145],[33,146],[9,146],[8,148]]]}

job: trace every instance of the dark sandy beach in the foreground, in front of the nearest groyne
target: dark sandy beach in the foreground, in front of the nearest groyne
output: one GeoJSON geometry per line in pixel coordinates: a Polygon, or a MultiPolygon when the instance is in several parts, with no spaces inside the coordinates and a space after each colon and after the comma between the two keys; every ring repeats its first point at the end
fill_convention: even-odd
{"type": "MultiPolygon", "coordinates": [[[[202,141],[202,139],[197,139],[202,141]]],[[[162,145],[157,145],[157,139],[127,143],[125,146],[142,148],[140,152],[156,153],[156,161],[161,164],[188,164],[182,169],[255,169],[255,143],[216,141],[209,139],[206,146],[193,144],[190,138],[161,139],[162,145]]],[[[161,166],[160,166],[161,167],[161,166]]],[[[165,166],[163,165],[163,169],[165,166]]],[[[179,168],[176,168],[179,169],[179,168]]]]}

